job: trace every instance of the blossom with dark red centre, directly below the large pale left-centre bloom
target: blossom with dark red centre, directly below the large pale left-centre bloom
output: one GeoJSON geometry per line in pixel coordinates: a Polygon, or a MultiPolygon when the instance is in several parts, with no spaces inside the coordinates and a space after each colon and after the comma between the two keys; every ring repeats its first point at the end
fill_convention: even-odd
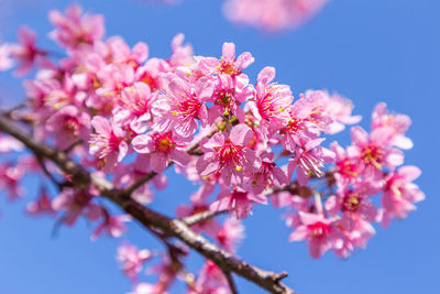
{"type": "Polygon", "coordinates": [[[150,165],[153,171],[161,173],[168,165],[168,161],[174,161],[179,165],[189,163],[189,154],[185,150],[188,140],[174,132],[152,131],[146,134],[138,135],[132,144],[136,152],[147,153],[150,165]]]}

